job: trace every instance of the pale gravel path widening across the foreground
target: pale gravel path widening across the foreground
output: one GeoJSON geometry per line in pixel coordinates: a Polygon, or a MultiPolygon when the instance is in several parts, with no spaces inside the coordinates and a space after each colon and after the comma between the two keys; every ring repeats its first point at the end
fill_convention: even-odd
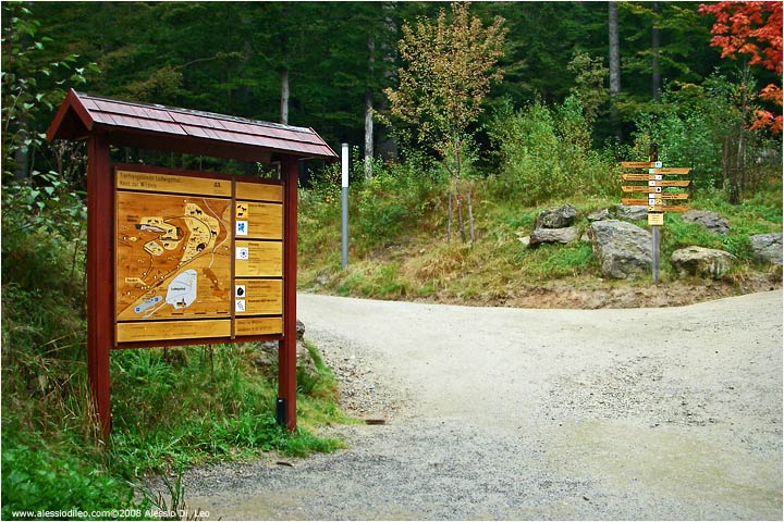
{"type": "Polygon", "coordinates": [[[384,425],[185,477],[211,519],[782,519],[782,293],[525,310],[301,295],[384,425]]]}

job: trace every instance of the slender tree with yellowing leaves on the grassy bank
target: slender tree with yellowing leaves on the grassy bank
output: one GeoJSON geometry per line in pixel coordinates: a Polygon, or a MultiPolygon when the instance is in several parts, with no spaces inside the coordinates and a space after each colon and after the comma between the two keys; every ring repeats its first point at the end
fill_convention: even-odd
{"type": "MultiPolygon", "coordinates": [[[[485,26],[468,13],[468,2],[455,2],[451,16],[442,9],[436,21],[418,18],[413,26],[403,25],[399,42],[404,65],[399,69],[399,87],[384,92],[390,111],[416,127],[421,145],[432,147],[449,170],[449,215],[446,239],[451,240],[452,201],[457,211],[461,238],[466,241],[461,189],[461,154],[466,147],[468,126],[482,112],[482,100],[503,71],[498,60],[503,55],[506,29],[497,16],[485,26]]],[[[470,190],[466,192],[469,232],[475,241],[470,190]]]]}

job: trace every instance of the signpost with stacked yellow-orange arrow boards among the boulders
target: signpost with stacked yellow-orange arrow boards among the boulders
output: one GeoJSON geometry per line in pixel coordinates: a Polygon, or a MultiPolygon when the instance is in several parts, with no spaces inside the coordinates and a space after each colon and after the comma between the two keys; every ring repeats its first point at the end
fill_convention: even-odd
{"type": "Polygon", "coordinates": [[[687,192],[679,189],[688,187],[689,179],[665,179],[667,175],[685,175],[690,169],[681,166],[663,166],[659,161],[659,151],[656,144],[651,145],[649,161],[622,161],[625,169],[645,169],[647,173],[623,173],[623,182],[646,182],[640,185],[622,185],[624,194],[645,194],[647,198],[622,198],[623,204],[645,204],[648,207],[648,225],[651,227],[653,239],[653,283],[659,284],[660,261],[660,227],[664,225],[665,212],[685,212],[685,204],[670,204],[669,201],[685,201],[689,198],[687,192]]]}

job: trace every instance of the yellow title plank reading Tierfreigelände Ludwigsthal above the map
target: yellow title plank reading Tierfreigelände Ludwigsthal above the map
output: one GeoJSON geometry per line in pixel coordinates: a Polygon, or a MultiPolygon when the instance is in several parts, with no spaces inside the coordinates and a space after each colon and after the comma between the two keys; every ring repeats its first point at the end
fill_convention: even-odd
{"type": "Polygon", "coordinates": [[[188,194],[231,198],[232,182],[207,177],[174,176],[150,172],[117,171],[118,190],[188,194]]]}

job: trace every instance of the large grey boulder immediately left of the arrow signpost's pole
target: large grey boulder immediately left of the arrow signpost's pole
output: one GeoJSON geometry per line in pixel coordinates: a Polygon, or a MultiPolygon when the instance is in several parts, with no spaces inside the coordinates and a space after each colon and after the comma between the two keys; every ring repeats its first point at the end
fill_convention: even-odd
{"type": "Polygon", "coordinates": [[[625,279],[650,271],[653,262],[650,232],[632,223],[603,220],[591,223],[588,237],[605,277],[625,279]]]}

